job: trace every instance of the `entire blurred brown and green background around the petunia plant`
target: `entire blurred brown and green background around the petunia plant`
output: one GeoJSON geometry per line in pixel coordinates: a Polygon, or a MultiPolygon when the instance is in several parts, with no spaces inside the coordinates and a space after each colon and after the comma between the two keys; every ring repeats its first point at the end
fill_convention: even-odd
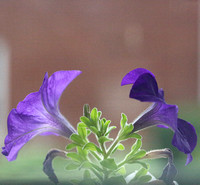
{"type": "MultiPolygon", "coordinates": [[[[119,124],[121,112],[129,121],[136,118],[148,104],[129,99],[130,86],[121,87],[120,82],[130,70],[143,67],[156,75],[167,102],[179,105],[180,117],[199,133],[198,14],[195,0],[0,1],[1,146],[9,111],[38,91],[45,72],[70,69],[83,72],[60,101],[61,112],[74,127],[85,103],[101,110],[113,125],[119,124]]],[[[171,146],[171,131],[152,128],[143,133],[147,150],[169,147],[175,152],[180,184],[200,184],[199,145],[193,163],[184,166],[186,155],[171,146]]],[[[34,184],[40,179],[50,184],[42,161],[50,148],[64,149],[66,144],[63,138],[38,136],[16,161],[0,156],[0,184],[34,184]]],[[[158,162],[151,169],[157,177],[166,160],[158,162]]],[[[61,181],[67,173],[63,168],[55,161],[61,181]]]]}

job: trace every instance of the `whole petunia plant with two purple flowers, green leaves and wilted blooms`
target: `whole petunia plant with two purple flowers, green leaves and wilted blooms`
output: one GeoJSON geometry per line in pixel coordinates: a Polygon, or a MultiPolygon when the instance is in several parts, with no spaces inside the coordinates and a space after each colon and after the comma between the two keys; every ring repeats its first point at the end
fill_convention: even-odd
{"type": "Polygon", "coordinates": [[[29,94],[19,102],[8,115],[8,135],[2,154],[8,161],[17,158],[19,150],[37,135],[57,135],[67,138],[65,150],[52,149],[47,154],[43,171],[49,179],[58,184],[58,178],[53,170],[52,161],[60,156],[66,159],[66,173],[69,170],[81,170],[83,176],[79,179],[71,177],[67,184],[74,185],[137,185],[148,184],[151,181],[177,184],[174,180],[177,174],[170,149],[155,149],[146,151],[142,148],[142,129],[158,126],[171,129],[174,132],[172,145],[187,155],[186,165],[192,161],[192,151],[197,143],[195,128],[189,122],[178,118],[178,107],[167,104],[164,91],[158,88],[155,76],[147,69],[138,68],[129,72],[122,79],[121,85],[132,85],[130,98],[142,102],[152,102],[152,105],[141,113],[133,122],[128,123],[127,116],[122,113],[118,125],[111,126],[111,121],[102,117],[97,108],[90,110],[84,105],[83,116],[77,128],[67,121],[60,113],[59,99],[65,88],[81,71],[57,71],[44,81],[38,92],[29,94]],[[118,127],[116,138],[110,132],[118,127]],[[91,141],[94,135],[96,141],[91,141]],[[123,142],[130,140],[132,146],[125,149],[123,142]],[[120,160],[116,154],[124,151],[120,160]],[[167,158],[168,162],[161,176],[155,179],[147,163],[150,159],[167,158]],[[126,166],[139,169],[128,175],[126,166]]]}

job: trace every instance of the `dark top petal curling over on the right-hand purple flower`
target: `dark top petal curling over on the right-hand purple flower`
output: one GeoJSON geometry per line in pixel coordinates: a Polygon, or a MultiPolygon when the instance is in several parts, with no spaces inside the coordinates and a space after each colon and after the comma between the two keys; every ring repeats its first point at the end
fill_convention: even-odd
{"type": "Polygon", "coordinates": [[[129,72],[123,79],[121,85],[133,84],[130,98],[147,102],[163,102],[164,92],[158,89],[155,76],[150,71],[137,68],[129,72]]]}

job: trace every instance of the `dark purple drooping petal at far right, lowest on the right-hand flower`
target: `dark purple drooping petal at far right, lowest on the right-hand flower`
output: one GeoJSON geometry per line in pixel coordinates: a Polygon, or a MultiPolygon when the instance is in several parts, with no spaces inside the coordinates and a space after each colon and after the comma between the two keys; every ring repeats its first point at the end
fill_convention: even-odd
{"type": "MultiPolygon", "coordinates": [[[[197,144],[197,134],[193,125],[185,120],[178,119],[172,144],[181,152],[190,154],[197,144]]],[[[192,156],[189,155],[186,163],[188,164],[191,160],[192,156]]]]}

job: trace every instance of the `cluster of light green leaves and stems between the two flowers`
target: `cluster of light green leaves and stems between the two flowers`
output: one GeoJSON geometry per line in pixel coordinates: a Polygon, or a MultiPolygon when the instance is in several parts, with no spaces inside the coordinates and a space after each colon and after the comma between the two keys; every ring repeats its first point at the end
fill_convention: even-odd
{"type": "Polygon", "coordinates": [[[121,115],[121,129],[115,139],[110,138],[110,132],[116,126],[110,126],[111,121],[101,118],[102,112],[93,108],[90,112],[89,106],[83,108],[83,116],[77,125],[77,133],[70,137],[71,143],[66,146],[67,157],[71,162],[66,166],[66,170],[83,170],[83,179],[72,180],[74,185],[126,185],[125,165],[140,164],[142,168],[131,182],[148,182],[148,165],[140,160],[146,155],[146,151],[141,149],[142,137],[133,133],[133,125],[128,124],[125,114],[121,115]],[[94,134],[97,144],[90,142],[88,136],[94,134]],[[116,162],[113,154],[117,151],[125,150],[123,141],[135,139],[131,151],[121,162],[116,162]],[[106,147],[105,143],[110,146],[106,147]]]}

